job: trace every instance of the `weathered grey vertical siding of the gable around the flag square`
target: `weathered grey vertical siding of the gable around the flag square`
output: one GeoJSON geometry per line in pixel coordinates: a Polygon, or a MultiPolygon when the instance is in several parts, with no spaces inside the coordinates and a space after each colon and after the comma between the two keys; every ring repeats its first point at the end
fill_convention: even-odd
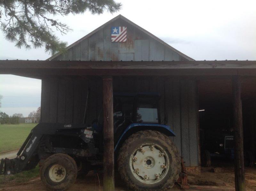
{"type": "Polygon", "coordinates": [[[183,59],[169,47],[159,43],[124,20],[116,20],[53,60],[179,61],[183,59]],[[111,42],[111,26],[126,26],[127,41],[111,42]]]}

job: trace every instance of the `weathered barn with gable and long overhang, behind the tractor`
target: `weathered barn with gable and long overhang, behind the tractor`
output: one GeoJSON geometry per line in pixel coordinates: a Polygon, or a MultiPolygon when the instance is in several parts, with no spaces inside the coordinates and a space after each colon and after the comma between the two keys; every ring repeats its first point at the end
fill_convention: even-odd
{"type": "MultiPolygon", "coordinates": [[[[236,165],[244,160],[243,117],[246,147],[255,155],[256,61],[196,61],[122,15],[66,50],[47,60],[0,61],[0,74],[42,79],[41,122],[83,123],[88,89],[89,123],[113,117],[106,109],[112,92],[158,93],[161,123],[176,134],[172,139],[187,172],[200,173],[200,129],[214,129],[223,115],[233,120],[236,165]],[[113,26],[125,27],[123,42],[111,42],[113,26]],[[212,113],[201,119],[199,110],[212,113]]],[[[243,185],[243,168],[237,173],[243,185]]]]}

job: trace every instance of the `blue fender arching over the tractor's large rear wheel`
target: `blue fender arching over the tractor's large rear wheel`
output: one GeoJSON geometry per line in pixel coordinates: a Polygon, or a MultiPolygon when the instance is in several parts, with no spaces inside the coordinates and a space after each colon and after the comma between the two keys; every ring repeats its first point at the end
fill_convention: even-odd
{"type": "Polygon", "coordinates": [[[175,133],[171,130],[171,127],[168,125],[162,125],[162,124],[156,124],[156,123],[132,123],[124,130],[123,134],[118,139],[115,146],[115,151],[120,146],[120,144],[123,142],[122,140],[125,139],[127,135],[130,136],[134,132],[146,130],[146,129],[160,131],[170,137],[176,136],[175,133]]]}

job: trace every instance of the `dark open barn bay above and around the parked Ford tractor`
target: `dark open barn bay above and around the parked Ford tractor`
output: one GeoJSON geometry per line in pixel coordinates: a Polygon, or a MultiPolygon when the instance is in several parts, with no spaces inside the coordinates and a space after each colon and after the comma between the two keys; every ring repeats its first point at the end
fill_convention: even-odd
{"type": "MultiPolygon", "coordinates": [[[[244,155],[246,163],[248,157],[255,158],[255,96],[256,86],[253,78],[242,79],[242,108],[243,108],[243,133],[244,155]]],[[[227,157],[216,157],[214,152],[224,147],[223,136],[234,136],[234,114],[232,100],[232,81],[229,78],[198,80],[199,97],[199,127],[201,150],[212,153],[212,164],[218,165],[221,161],[234,162],[234,152],[227,157]],[[211,134],[211,135],[209,135],[211,134]],[[210,140],[209,139],[214,139],[210,140]],[[212,143],[215,143],[212,144],[212,143]],[[215,159],[215,160],[214,160],[215,159]],[[216,160],[219,159],[219,160],[216,160]]],[[[234,144],[229,147],[234,148],[234,144]]],[[[223,165],[223,164],[222,164],[223,165]]],[[[247,164],[249,165],[249,164],[247,164]]],[[[252,166],[253,164],[250,164],[252,166]]]]}

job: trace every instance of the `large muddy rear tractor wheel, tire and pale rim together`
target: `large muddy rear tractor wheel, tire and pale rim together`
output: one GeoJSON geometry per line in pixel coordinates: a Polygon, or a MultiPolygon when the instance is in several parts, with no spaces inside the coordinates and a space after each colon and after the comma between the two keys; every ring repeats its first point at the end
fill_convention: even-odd
{"type": "Polygon", "coordinates": [[[180,155],[172,140],[152,130],[139,131],[119,150],[118,171],[131,190],[166,190],[181,171],[180,155]]]}

